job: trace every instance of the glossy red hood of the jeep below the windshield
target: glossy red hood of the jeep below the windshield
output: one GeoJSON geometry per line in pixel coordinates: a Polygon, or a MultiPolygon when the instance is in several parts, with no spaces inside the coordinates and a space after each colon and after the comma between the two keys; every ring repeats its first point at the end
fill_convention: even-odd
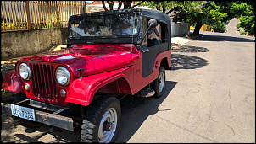
{"type": "Polygon", "coordinates": [[[80,68],[83,69],[83,76],[108,72],[131,66],[139,56],[139,51],[131,44],[71,45],[64,50],[27,56],[19,61],[49,61],[64,64],[70,67],[74,77],[81,77],[80,68]]]}

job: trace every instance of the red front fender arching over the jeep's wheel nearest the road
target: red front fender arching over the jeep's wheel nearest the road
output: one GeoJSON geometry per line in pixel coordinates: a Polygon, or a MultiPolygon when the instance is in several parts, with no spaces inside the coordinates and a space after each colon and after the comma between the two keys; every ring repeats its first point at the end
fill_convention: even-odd
{"type": "Polygon", "coordinates": [[[102,88],[119,78],[125,78],[131,88],[131,83],[128,80],[128,77],[123,73],[129,68],[131,67],[75,79],[67,91],[65,102],[87,106],[92,102],[93,96],[99,88],[102,88]]]}

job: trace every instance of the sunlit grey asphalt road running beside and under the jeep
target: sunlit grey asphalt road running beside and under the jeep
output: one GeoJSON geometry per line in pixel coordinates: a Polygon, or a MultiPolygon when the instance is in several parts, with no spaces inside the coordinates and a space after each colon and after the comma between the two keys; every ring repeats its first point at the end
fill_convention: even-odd
{"type": "MultiPolygon", "coordinates": [[[[164,95],[124,103],[117,141],[255,142],[255,38],[228,26],[227,33],[200,32],[201,38],[172,51],[164,95]]],[[[2,115],[1,141],[80,139],[80,131],[48,129],[28,129],[2,115]]]]}

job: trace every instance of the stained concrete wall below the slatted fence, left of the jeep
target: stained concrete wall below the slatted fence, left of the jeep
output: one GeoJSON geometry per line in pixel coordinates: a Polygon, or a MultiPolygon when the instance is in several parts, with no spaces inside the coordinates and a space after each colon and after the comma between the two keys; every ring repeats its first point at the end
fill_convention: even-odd
{"type": "Polygon", "coordinates": [[[1,57],[12,58],[47,51],[67,43],[68,28],[1,32],[1,57]]]}

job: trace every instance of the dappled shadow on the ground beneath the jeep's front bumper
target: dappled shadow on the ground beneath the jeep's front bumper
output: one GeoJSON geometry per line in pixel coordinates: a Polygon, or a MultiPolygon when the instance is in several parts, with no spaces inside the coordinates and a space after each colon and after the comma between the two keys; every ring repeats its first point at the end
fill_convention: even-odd
{"type": "MultiPolygon", "coordinates": [[[[14,143],[24,143],[24,142],[43,142],[45,139],[44,136],[49,138],[54,138],[55,140],[51,141],[51,143],[59,143],[59,142],[78,142],[80,141],[80,131],[55,131],[49,133],[50,127],[49,125],[42,125],[36,129],[25,128],[25,133],[19,133],[14,135],[4,135],[10,134],[14,129],[18,130],[18,124],[16,120],[13,120],[10,115],[2,114],[2,130],[1,130],[1,141],[2,142],[14,142],[14,143]],[[34,133],[34,136],[31,134],[34,133]],[[36,133],[36,134],[35,134],[36,133]]],[[[49,141],[49,140],[47,140],[49,141]]]]}

